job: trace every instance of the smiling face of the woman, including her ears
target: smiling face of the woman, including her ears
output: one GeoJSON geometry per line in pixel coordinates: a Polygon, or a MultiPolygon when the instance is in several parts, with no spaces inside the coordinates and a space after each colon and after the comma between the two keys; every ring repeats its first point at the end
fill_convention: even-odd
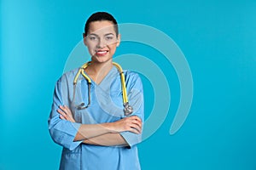
{"type": "Polygon", "coordinates": [[[90,22],[88,34],[84,37],[84,44],[93,61],[104,63],[113,58],[119,40],[120,36],[116,35],[111,21],[93,21],[90,22]]]}

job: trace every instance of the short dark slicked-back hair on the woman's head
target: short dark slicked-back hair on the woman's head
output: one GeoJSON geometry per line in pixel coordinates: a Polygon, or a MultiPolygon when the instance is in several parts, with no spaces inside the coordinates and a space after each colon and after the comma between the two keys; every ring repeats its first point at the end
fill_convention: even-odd
{"type": "Polygon", "coordinates": [[[113,18],[113,16],[111,14],[108,14],[107,12],[96,12],[94,14],[91,14],[89,19],[85,23],[84,35],[87,36],[87,34],[88,34],[90,22],[102,21],[102,20],[108,20],[113,23],[114,31],[116,33],[116,36],[118,37],[119,27],[118,27],[117,21],[113,18]]]}

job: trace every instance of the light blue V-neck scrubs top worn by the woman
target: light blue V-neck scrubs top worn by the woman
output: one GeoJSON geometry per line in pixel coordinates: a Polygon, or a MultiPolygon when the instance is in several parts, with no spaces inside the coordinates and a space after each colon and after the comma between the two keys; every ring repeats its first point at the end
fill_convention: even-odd
{"type": "MultiPolygon", "coordinates": [[[[79,69],[65,73],[55,85],[54,100],[49,116],[49,133],[56,144],[63,147],[60,169],[83,170],[137,170],[141,169],[137,144],[142,135],[122,132],[120,135],[129,144],[125,146],[100,146],[73,141],[81,124],[116,122],[125,117],[119,71],[113,66],[100,84],[91,80],[90,106],[78,110],[78,105],[88,104],[88,83],[79,76],[75,90],[73,80],[79,69]],[[61,120],[59,105],[67,105],[76,122],[61,120]]],[[[144,121],[143,85],[137,73],[124,71],[129,104],[144,121]]]]}

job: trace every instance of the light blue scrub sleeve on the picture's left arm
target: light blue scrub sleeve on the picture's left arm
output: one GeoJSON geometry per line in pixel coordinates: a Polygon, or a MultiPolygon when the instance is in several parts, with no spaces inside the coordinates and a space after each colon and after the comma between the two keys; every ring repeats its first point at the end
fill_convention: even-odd
{"type": "Polygon", "coordinates": [[[63,102],[63,95],[65,95],[65,93],[67,94],[67,89],[63,90],[63,83],[60,79],[55,85],[53,104],[48,119],[49,133],[56,144],[60,144],[69,150],[73,150],[82,142],[73,141],[81,124],[69,122],[60,118],[60,114],[57,112],[57,109],[59,108],[59,105],[65,104],[63,102]]]}

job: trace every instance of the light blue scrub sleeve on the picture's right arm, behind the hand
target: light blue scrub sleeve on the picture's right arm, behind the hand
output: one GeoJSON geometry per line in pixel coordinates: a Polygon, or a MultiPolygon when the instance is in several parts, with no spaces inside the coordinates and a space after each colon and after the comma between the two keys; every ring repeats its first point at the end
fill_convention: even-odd
{"type": "MultiPolygon", "coordinates": [[[[126,76],[126,88],[129,104],[133,107],[131,116],[138,116],[141,118],[142,122],[144,122],[143,83],[141,78],[136,73],[132,73],[132,75],[128,77],[126,76]]],[[[127,144],[129,144],[129,148],[142,141],[142,133],[136,134],[125,131],[120,134],[127,144]]]]}

